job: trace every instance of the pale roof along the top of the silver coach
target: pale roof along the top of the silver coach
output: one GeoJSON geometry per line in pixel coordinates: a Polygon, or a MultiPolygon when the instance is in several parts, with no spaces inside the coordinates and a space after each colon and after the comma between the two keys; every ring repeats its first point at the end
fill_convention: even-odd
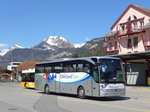
{"type": "Polygon", "coordinates": [[[58,59],[54,59],[52,61],[49,62],[44,62],[44,63],[37,63],[37,65],[39,64],[48,64],[48,63],[59,63],[59,62],[68,62],[68,61],[77,61],[77,60],[86,60],[92,64],[95,64],[95,62],[92,60],[92,58],[105,58],[105,59],[120,59],[120,58],[116,58],[116,57],[110,57],[110,56],[92,56],[92,57],[81,57],[81,58],[58,58],[58,59]]]}

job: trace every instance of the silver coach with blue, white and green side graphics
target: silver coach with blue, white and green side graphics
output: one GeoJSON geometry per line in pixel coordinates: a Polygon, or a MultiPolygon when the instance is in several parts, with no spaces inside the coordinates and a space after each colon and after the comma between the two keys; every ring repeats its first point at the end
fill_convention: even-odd
{"type": "Polygon", "coordinates": [[[85,96],[125,95],[121,60],[113,57],[57,59],[36,64],[35,89],[85,96]]]}

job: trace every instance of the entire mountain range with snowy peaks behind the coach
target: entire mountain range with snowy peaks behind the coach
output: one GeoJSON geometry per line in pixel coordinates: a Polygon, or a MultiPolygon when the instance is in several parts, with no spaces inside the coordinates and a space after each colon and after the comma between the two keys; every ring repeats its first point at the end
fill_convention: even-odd
{"type": "MultiPolygon", "coordinates": [[[[101,47],[103,41],[100,38],[93,39],[82,44],[73,44],[61,36],[49,36],[41,41],[39,44],[23,48],[14,45],[8,49],[0,50],[0,66],[7,66],[13,61],[50,61],[60,57],[72,57],[73,54],[78,53],[79,56],[95,51],[95,48],[101,47]]],[[[88,56],[88,55],[86,55],[88,56]]]]}

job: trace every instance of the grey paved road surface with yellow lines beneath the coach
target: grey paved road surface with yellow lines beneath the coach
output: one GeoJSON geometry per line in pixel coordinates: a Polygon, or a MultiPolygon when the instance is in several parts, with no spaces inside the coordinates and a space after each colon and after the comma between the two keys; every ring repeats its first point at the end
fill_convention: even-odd
{"type": "Polygon", "coordinates": [[[127,87],[124,97],[105,99],[45,95],[19,83],[0,83],[0,112],[150,112],[150,88],[127,87]]]}

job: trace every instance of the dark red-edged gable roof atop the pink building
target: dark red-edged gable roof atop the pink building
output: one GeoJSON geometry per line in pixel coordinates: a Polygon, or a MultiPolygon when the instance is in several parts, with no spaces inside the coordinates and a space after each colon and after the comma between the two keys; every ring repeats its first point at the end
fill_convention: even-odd
{"type": "Polygon", "coordinates": [[[117,19],[117,21],[112,25],[111,29],[113,29],[115,27],[115,25],[121,20],[121,18],[126,14],[126,12],[130,9],[130,8],[133,8],[145,15],[148,15],[150,16],[150,8],[144,8],[144,7],[140,7],[140,6],[137,6],[137,5],[129,5],[126,10],[121,14],[121,16],[117,19]]]}

